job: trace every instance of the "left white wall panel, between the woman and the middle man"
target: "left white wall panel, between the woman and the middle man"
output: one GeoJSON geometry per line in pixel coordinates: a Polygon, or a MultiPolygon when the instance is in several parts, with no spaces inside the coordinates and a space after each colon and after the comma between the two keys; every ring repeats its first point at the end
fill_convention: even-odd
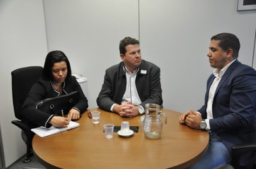
{"type": "Polygon", "coordinates": [[[106,68],[121,61],[120,40],[138,38],[138,0],[44,0],[44,8],[49,51],[63,50],[88,78],[89,108],[97,107],[106,68]]]}

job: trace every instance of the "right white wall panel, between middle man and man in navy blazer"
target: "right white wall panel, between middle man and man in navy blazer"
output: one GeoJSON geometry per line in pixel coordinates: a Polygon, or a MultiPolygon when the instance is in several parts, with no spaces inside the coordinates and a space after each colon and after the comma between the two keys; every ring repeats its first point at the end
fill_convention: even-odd
{"type": "Polygon", "coordinates": [[[255,29],[256,10],[237,12],[234,0],[141,0],[141,48],[161,67],[164,107],[184,112],[202,106],[212,73],[206,54],[215,34],[236,34],[238,59],[252,66],[255,29]]]}

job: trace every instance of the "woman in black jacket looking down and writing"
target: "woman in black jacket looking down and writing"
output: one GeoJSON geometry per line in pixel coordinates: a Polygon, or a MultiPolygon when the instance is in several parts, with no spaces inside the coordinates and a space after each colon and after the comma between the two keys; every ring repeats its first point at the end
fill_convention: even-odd
{"type": "Polygon", "coordinates": [[[59,50],[49,52],[45,58],[43,76],[31,87],[22,106],[22,120],[28,122],[33,128],[38,126],[49,128],[52,125],[67,128],[69,122],[79,119],[80,114],[86,108],[88,108],[88,100],[76,78],[71,75],[67,56],[59,50]],[[70,109],[67,117],[47,114],[35,107],[37,101],[54,98],[72,91],[79,92],[79,101],[70,109]]]}

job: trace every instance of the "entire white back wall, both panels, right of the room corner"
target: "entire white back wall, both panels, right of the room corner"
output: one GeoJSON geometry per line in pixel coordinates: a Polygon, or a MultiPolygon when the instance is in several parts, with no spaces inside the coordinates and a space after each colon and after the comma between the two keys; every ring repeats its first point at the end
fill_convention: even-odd
{"type": "Polygon", "coordinates": [[[44,1],[47,42],[49,50],[65,50],[72,69],[88,78],[89,108],[97,107],[104,71],[120,61],[118,43],[125,36],[140,34],[143,59],[161,67],[164,107],[180,112],[202,105],[214,34],[236,34],[242,44],[239,61],[252,65],[256,12],[237,12],[237,1],[73,2],[44,1]]]}

